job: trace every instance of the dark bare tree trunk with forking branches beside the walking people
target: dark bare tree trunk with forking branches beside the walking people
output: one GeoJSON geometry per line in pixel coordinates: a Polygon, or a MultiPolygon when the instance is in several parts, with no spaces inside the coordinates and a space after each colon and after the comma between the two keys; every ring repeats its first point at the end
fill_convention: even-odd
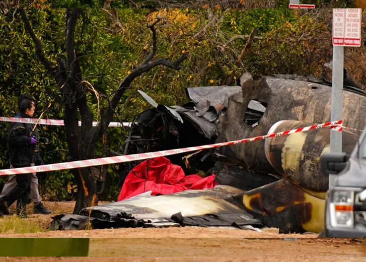
{"type": "MultiPolygon", "coordinates": [[[[53,75],[59,86],[65,110],[64,123],[69,156],[70,160],[73,161],[93,158],[96,143],[99,139],[102,140],[104,154],[107,154],[107,127],[112,121],[115,109],[123,94],[130,87],[134,79],[143,73],[148,72],[155,66],[166,66],[178,70],[180,64],[188,56],[187,53],[183,54],[174,62],[162,58],[153,59],[157,47],[155,26],[159,22],[159,19],[148,25],[148,28],[152,32],[151,52],[140,65],[129,72],[120,82],[115,89],[112,98],[108,100],[107,106],[101,110],[98,125],[93,128],[93,113],[88,105],[86,93],[94,92],[98,100],[100,95],[88,81],[84,80],[79,55],[79,52],[82,52],[82,50],[79,51],[75,45],[75,31],[78,29],[77,25],[78,21],[80,21],[78,18],[81,16],[81,12],[82,10],[80,9],[66,10],[65,49],[67,57],[66,59],[58,58],[58,63],[56,64],[46,57],[43,51],[42,42],[36,36],[25,10],[20,10],[25,29],[36,46],[36,54],[39,61],[45,66],[47,71],[53,75]],[[79,118],[81,119],[81,128],[78,127],[79,118]]],[[[84,23],[85,21],[79,25],[81,31],[84,23]]],[[[98,182],[103,182],[105,180],[107,168],[103,168],[103,166],[101,169],[96,167],[78,168],[73,169],[72,173],[78,187],[74,213],[78,213],[82,208],[96,203],[97,194],[101,193],[100,188],[98,188],[98,182]]]]}

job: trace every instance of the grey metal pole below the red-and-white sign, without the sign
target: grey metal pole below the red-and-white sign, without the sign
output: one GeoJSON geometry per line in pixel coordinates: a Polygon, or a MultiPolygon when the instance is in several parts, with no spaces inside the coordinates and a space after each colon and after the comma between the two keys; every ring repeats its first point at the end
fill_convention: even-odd
{"type": "MultiPolygon", "coordinates": [[[[344,47],[333,46],[333,64],[332,64],[332,104],[330,120],[342,120],[343,108],[343,64],[344,47]]],[[[342,132],[330,131],[330,152],[342,152],[342,132]]],[[[336,175],[329,175],[329,188],[333,185],[336,175]]]]}

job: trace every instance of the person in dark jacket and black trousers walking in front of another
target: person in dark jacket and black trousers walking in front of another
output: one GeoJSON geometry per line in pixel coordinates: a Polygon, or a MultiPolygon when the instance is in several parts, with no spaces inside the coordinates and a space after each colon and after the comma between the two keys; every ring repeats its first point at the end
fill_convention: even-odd
{"type": "MultiPolygon", "coordinates": [[[[33,101],[24,99],[19,106],[20,117],[31,118],[35,111],[33,101]]],[[[36,129],[34,124],[29,123],[11,123],[8,133],[8,156],[10,165],[14,168],[27,167],[34,165],[39,161],[39,154],[35,153],[35,147],[38,143],[36,129]]],[[[42,160],[41,160],[42,161],[42,160]]],[[[15,200],[16,213],[20,217],[27,217],[25,210],[29,194],[32,173],[16,175],[16,186],[5,196],[0,198],[0,212],[9,214],[7,209],[15,200]]]]}

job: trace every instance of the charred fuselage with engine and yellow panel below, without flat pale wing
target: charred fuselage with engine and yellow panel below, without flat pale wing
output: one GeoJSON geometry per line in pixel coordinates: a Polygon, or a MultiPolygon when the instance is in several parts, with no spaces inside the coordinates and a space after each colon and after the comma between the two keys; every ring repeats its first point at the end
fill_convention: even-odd
{"type": "MultiPolygon", "coordinates": [[[[242,86],[187,89],[184,106],[157,105],[137,117],[125,154],[232,141],[330,121],[331,88],[319,81],[242,78],[242,86]]],[[[366,96],[343,91],[343,150],[351,152],[365,127],[366,96]]],[[[169,159],[186,173],[214,172],[220,184],[246,192],[232,202],[281,232],[319,232],[328,177],[320,155],[330,129],[268,138],[169,159]]],[[[136,163],[135,163],[136,164],[136,163]]],[[[126,169],[127,170],[127,169],[126,169]]],[[[127,170],[128,171],[128,170],[127,170]]]]}

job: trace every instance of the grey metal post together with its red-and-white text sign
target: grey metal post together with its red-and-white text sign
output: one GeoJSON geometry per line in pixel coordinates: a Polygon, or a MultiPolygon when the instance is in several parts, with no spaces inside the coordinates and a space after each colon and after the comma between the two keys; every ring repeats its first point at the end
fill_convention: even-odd
{"type": "MultiPolygon", "coordinates": [[[[333,9],[331,121],[342,120],[344,47],[361,45],[360,8],[333,9]]],[[[330,152],[342,152],[342,132],[330,131],[330,152]]],[[[329,188],[337,175],[329,175],[329,188]]]]}

